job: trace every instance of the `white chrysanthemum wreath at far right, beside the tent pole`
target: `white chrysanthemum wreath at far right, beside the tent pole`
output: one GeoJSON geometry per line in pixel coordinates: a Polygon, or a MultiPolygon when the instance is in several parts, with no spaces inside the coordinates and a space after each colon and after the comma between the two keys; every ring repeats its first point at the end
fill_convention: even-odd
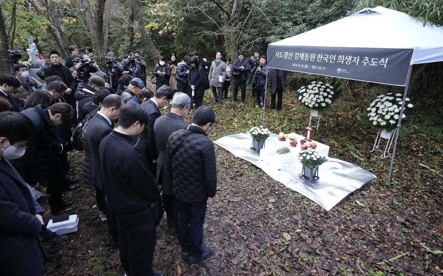
{"type": "MultiPolygon", "coordinates": [[[[406,98],[405,110],[403,111],[402,120],[406,120],[406,114],[414,107],[408,104],[409,98],[406,98]]],[[[400,93],[387,93],[377,96],[367,108],[369,121],[375,127],[390,132],[397,127],[400,118],[400,108],[402,107],[403,95],[400,93]]]]}

